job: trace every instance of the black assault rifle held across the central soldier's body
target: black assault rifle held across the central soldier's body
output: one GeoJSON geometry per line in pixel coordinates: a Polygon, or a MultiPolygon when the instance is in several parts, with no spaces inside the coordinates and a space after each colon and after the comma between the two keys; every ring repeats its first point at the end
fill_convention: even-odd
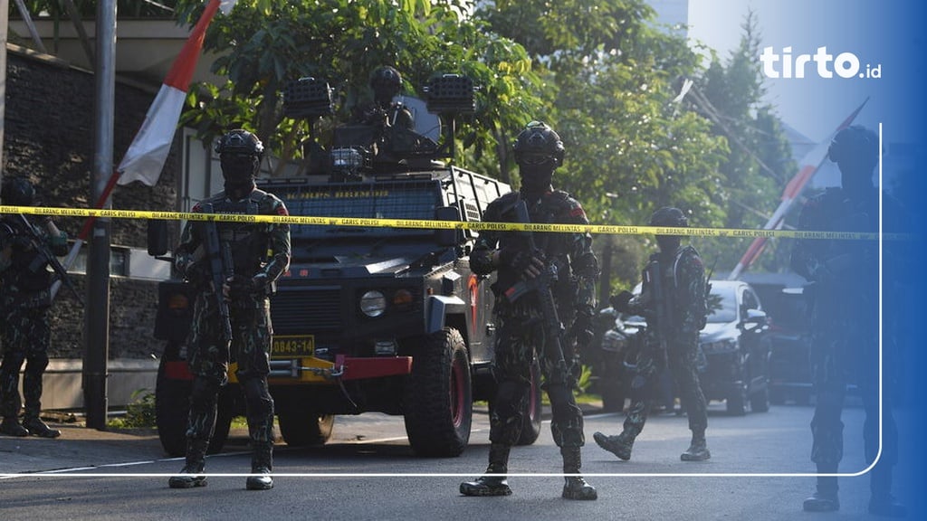
{"type": "MultiPolygon", "coordinates": [[[[515,204],[516,222],[530,223],[525,201],[521,198],[515,204]]],[[[535,257],[543,258],[543,252],[535,246],[534,235],[530,231],[525,232],[527,237],[528,248],[535,257]]],[[[566,366],[564,358],[564,325],[560,322],[560,316],[557,314],[557,305],[553,300],[551,287],[557,282],[558,268],[556,262],[544,262],[544,269],[540,275],[533,279],[522,280],[505,291],[505,298],[510,302],[520,299],[523,295],[534,292],[538,296],[540,303],[540,312],[546,329],[547,349],[544,356],[552,362],[551,382],[553,384],[563,384],[570,387],[568,377],[570,371],[566,366]]]]}

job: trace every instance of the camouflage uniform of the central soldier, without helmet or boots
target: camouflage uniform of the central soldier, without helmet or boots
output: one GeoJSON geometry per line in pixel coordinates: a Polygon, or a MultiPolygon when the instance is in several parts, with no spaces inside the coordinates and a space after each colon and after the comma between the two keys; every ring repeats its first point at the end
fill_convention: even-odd
{"type": "MultiPolygon", "coordinates": [[[[487,207],[484,220],[490,222],[513,222],[512,210],[518,194],[507,194],[487,207]]],[[[576,199],[565,192],[546,193],[538,199],[527,200],[531,222],[559,222],[588,224],[586,214],[576,199]]],[[[557,286],[552,288],[557,301],[558,316],[570,324],[577,310],[591,314],[595,304],[595,277],[598,264],[591,251],[591,236],[577,234],[535,234],[538,248],[545,252],[548,262],[559,260],[561,266],[557,286]]],[[[527,250],[525,239],[514,232],[482,232],[470,256],[470,265],[475,273],[489,274],[495,270],[491,256],[496,245],[501,248],[527,250]]],[[[521,433],[522,412],[525,410],[530,388],[530,366],[535,354],[542,363],[544,375],[548,377],[547,391],[551,397],[553,441],[558,447],[582,447],[582,412],[568,388],[552,388],[550,375],[554,367],[551,356],[546,354],[547,341],[543,317],[534,294],[509,302],[503,292],[517,284],[520,275],[509,266],[499,268],[499,276],[493,287],[496,293],[495,314],[499,323],[496,337],[496,363],[494,367],[500,390],[494,401],[489,418],[489,440],[494,443],[514,445],[521,433]]],[[[565,353],[569,362],[571,353],[565,353]]]]}

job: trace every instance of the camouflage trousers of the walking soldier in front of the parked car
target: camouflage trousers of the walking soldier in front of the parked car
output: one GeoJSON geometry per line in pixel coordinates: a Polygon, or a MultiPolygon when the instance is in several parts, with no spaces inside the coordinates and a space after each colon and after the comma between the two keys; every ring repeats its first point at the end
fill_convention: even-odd
{"type": "MultiPolygon", "coordinates": [[[[673,377],[674,389],[679,394],[682,410],[689,419],[693,435],[704,436],[708,427],[707,401],[698,377],[698,344],[692,338],[674,338],[667,346],[666,364],[673,377]]],[[[658,372],[664,368],[658,345],[647,342],[633,371],[630,390],[630,407],[625,416],[624,429],[630,435],[641,434],[651,402],[654,400],[658,372]]]]}

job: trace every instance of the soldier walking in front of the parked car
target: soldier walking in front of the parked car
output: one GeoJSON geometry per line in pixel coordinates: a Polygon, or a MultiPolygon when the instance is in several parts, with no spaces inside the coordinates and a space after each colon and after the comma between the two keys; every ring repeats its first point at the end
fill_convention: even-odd
{"type": "MultiPolygon", "coordinates": [[[[679,209],[662,208],[654,212],[650,225],[684,227],[688,226],[688,220],[679,209]]],[[[711,457],[705,441],[705,428],[708,426],[705,395],[697,369],[699,331],[705,327],[707,314],[705,267],[698,251],[692,246],[682,247],[680,239],[679,235],[657,235],[660,251],[650,257],[650,261],[659,266],[660,284],[666,301],[655,301],[654,284],[647,280],[647,270],[644,271],[640,296],[634,297],[629,291],[623,291],[614,298],[616,310],[639,314],[647,319],[643,346],[631,380],[631,404],[624,429],[617,436],[605,436],[601,432],[592,435],[600,447],[622,460],[631,457],[634,439],[641,434],[647,421],[657,374],[667,364],[692,431],[692,443],[679,459],[699,462],[711,457]],[[659,324],[655,320],[657,306],[665,306],[667,312],[663,316],[670,318],[667,324],[659,324]]]]}

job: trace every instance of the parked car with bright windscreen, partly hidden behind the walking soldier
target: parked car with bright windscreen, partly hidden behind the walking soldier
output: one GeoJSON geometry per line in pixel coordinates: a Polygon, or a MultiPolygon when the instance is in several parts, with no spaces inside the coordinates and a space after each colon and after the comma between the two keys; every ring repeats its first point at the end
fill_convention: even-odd
{"type": "MultiPolygon", "coordinates": [[[[638,285],[635,293],[640,293],[638,285]]],[[[760,413],[769,409],[768,370],[770,343],[768,317],[756,291],[742,281],[711,281],[712,305],[705,329],[699,335],[699,371],[707,400],[724,400],[730,414],[744,414],[747,407],[760,413]]],[[[645,326],[642,317],[600,311],[600,320],[611,320],[595,353],[592,374],[605,410],[620,411],[627,396],[629,370],[626,358],[639,341],[645,326]]],[[[654,397],[658,399],[659,397],[654,397]]]]}

